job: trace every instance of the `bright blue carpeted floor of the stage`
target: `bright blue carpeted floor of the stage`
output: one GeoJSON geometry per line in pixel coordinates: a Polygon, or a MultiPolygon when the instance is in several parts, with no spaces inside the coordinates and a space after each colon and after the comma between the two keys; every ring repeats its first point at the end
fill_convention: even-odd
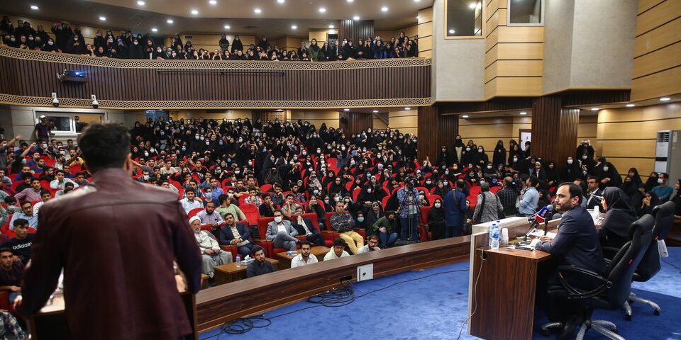
{"type": "MultiPolygon", "coordinates": [[[[670,248],[671,264],[646,283],[634,283],[633,292],[658,302],[660,316],[648,305],[634,303],[633,320],[624,311],[597,311],[594,317],[608,319],[626,339],[680,339],[681,248],[670,248]]],[[[355,300],[342,307],[314,307],[299,302],[265,314],[270,319],[255,322],[245,334],[226,334],[220,329],[201,334],[200,339],[457,339],[467,317],[468,263],[454,263],[423,271],[409,271],[352,284],[355,300]],[[436,298],[436,300],[433,300],[436,298]]],[[[535,324],[546,321],[538,312],[535,324]]],[[[466,333],[459,339],[477,339],[466,333]]],[[[536,327],[533,339],[543,337],[536,327]]],[[[606,339],[588,331],[586,339],[606,339]]]]}

